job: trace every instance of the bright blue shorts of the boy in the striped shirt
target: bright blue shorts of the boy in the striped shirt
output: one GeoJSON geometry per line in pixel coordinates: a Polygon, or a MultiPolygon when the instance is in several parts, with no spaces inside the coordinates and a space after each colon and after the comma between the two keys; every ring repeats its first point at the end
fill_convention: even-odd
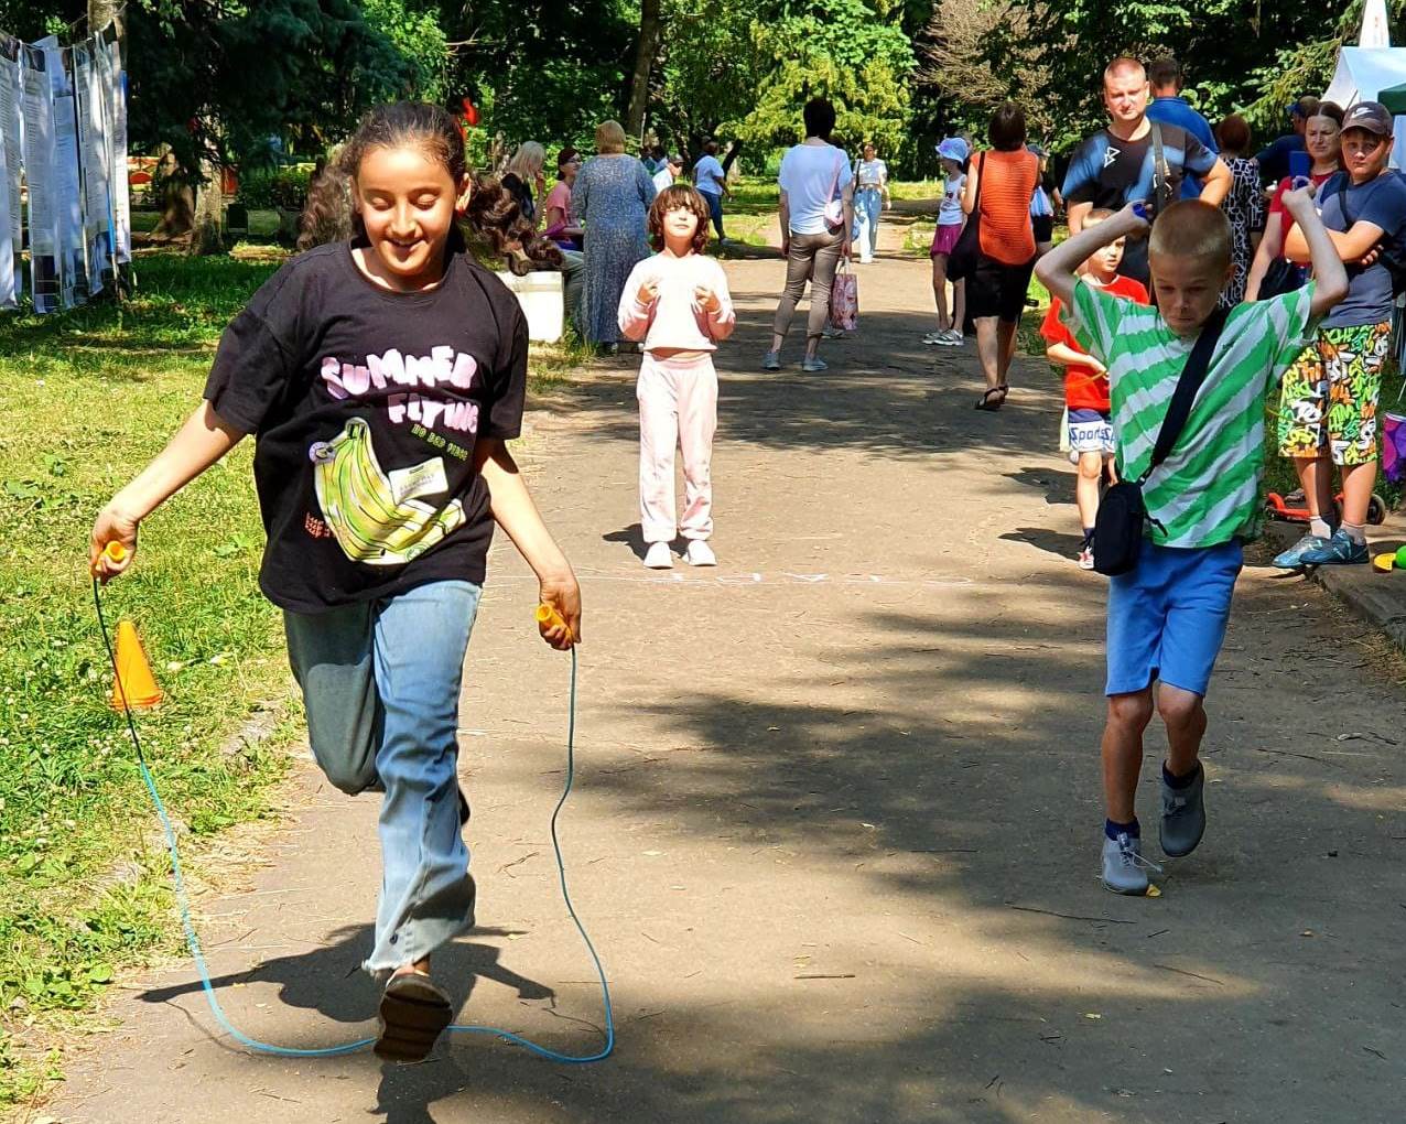
{"type": "Polygon", "coordinates": [[[1137,566],[1108,582],[1104,694],[1128,695],[1161,679],[1205,695],[1243,561],[1239,540],[1192,549],[1143,540],[1137,566]]]}

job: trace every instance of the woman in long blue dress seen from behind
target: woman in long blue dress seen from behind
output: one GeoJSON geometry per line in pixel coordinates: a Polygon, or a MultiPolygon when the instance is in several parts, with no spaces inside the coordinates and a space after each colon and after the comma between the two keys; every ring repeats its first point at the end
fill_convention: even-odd
{"type": "Polygon", "coordinates": [[[571,189],[571,205],[585,228],[586,340],[614,352],[619,347],[620,294],[630,270],[650,256],[645,215],[654,203],[654,179],[624,151],[619,121],[596,128],[596,155],[586,160],[571,189]]]}

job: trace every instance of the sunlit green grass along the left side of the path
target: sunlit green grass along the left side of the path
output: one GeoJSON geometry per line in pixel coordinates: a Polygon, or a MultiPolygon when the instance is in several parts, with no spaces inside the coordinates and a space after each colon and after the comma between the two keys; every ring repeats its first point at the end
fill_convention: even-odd
{"type": "MultiPolygon", "coordinates": [[[[124,965],[180,947],[165,847],[107,703],[87,536],[200,401],[219,332],[277,262],[143,255],[121,307],[0,315],[0,1110],[52,1076],[44,1042],[124,965]]],[[[583,355],[534,345],[533,388],[583,355]]],[[[104,592],[166,692],[138,727],[197,871],[200,837],[267,815],[299,715],[256,585],[252,454],[240,445],[156,512],[104,592]],[[259,710],[278,734],[231,747],[259,710]]]]}

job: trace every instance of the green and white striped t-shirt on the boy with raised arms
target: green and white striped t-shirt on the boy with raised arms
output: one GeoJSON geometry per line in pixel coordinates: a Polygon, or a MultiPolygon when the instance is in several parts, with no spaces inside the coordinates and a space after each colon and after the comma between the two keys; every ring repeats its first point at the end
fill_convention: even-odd
{"type": "MultiPolygon", "coordinates": [[[[1264,397],[1316,329],[1312,283],[1230,309],[1206,381],[1167,460],[1143,484],[1149,536],[1159,546],[1216,546],[1256,532],[1264,471],[1264,397]]],[[[1182,339],[1150,305],[1083,280],[1064,312],[1074,338],[1108,367],[1118,475],[1147,471],[1157,432],[1195,339],[1182,339]]]]}

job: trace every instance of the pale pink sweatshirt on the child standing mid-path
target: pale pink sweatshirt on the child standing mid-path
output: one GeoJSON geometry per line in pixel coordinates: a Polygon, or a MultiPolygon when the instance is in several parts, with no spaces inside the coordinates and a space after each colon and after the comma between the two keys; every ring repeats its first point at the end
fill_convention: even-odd
{"type": "Polygon", "coordinates": [[[644,340],[644,350],[676,347],[689,352],[716,352],[717,342],[733,335],[737,314],[727,291],[727,274],[716,257],[690,253],[673,257],[657,253],[637,264],[620,294],[620,331],[626,339],[644,340]],[[654,304],[640,304],[640,286],[654,280],[659,295],[654,304]],[[703,311],[693,298],[697,286],[707,286],[718,298],[716,315],[703,311]]]}

